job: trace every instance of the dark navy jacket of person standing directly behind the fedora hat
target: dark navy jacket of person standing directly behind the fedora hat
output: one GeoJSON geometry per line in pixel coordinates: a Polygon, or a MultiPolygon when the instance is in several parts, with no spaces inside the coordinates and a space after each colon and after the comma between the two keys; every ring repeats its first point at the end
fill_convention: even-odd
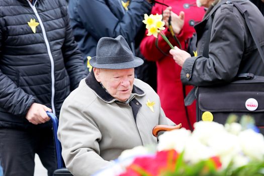
{"type": "Polygon", "coordinates": [[[122,35],[133,51],[144,14],[149,14],[151,7],[146,0],[131,0],[128,10],[121,0],[70,0],[70,23],[84,61],[87,56],[96,55],[97,43],[102,37],[122,35]]]}

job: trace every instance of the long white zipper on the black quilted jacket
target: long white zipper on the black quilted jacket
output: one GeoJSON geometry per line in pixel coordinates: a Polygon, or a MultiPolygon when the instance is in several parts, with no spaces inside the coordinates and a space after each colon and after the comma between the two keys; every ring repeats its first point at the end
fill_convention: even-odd
{"type": "Polygon", "coordinates": [[[35,7],[36,3],[38,0],[36,0],[34,2],[34,5],[32,5],[30,3],[29,0],[27,0],[30,7],[33,9],[38,21],[39,21],[39,24],[40,24],[40,27],[41,27],[41,30],[42,30],[42,34],[43,34],[43,37],[44,37],[44,41],[45,41],[45,44],[47,46],[47,50],[48,50],[48,55],[49,55],[49,58],[50,58],[50,64],[51,64],[51,109],[52,109],[52,113],[53,114],[56,114],[55,112],[55,107],[54,107],[54,95],[55,95],[55,79],[54,79],[54,60],[53,60],[53,57],[52,57],[52,54],[51,54],[51,50],[50,50],[50,46],[49,46],[49,41],[48,41],[48,38],[47,38],[47,35],[46,35],[46,31],[45,31],[45,28],[44,28],[44,25],[41,21],[41,18],[37,12],[37,9],[35,7]]]}

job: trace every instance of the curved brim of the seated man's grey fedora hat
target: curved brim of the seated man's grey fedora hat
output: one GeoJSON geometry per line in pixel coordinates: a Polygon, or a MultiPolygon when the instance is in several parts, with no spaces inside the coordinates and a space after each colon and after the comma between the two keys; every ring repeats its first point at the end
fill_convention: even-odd
{"type": "Polygon", "coordinates": [[[96,68],[105,68],[105,69],[127,69],[127,68],[135,68],[144,63],[144,61],[134,56],[134,60],[129,62],[121,62],[121,63],[106,63],[106,64],[98,64],[96,63],[96,56],[92,57],[89,60],[89,63],[96,68]]]}

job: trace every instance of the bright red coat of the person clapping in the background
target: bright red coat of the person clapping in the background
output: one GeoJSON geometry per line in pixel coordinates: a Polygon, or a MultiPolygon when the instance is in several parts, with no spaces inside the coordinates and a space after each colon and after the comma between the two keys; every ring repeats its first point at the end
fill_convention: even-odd
{"type": "MultiPolygon", "coordinates": [[[[159,2],[171,6],[172,12],[178,15],[180,11],[185,12],[184,28],[177,38],[181,42],[182,49],[187,49],[186,42],[195,32],[190,23],[200,22],[205,13],[204,9],[198,8],[194,0],[159,0],[159,2]],[[184,8],[188,5],[189,8],[184,8]]],[[[162,14],[162,10],[165,9],[165,6],[155,4],[151,13],[162,14]]],[[[167,29],[163,32],[173,46],[178,46],[167,29]]],[[[171,56],[166,56],[157,49],[155,40],[156,38],[153,36],[145,36],[140,44],[140,50],[147,60],[156,61],[157,93],[160,96],[161,107],[166,116],[174,123],[182,123],[183,127],[192,129],[193,123],[196,122],[196,103],[194,102],[191,106],[185,107],[184,97],[193,87],[190,85],[183,86],[180,78],[181,67],[175,63],[171,56]]],[[[169,55],[170,47],[160,36],[158,36],[158,46],[169,55]]]]}

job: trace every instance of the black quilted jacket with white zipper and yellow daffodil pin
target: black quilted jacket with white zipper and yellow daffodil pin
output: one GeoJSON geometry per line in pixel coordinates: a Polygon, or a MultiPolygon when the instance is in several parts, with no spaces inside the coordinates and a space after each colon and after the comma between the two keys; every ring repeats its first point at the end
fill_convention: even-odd
{"type": "Polygon", "coordinates": [[[62,0],[0,0],[0,127],[32,126],[25,115],[34,102],[58,116],[83,77],[62,0]]]}

